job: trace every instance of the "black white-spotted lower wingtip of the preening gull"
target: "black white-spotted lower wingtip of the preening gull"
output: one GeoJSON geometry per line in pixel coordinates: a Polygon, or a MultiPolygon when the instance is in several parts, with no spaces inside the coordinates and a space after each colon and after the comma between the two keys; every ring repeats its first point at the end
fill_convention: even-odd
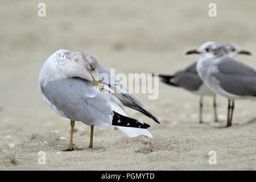
{"type": "Polygon", "coordinates": [[[113,119],[112,119],[112,125],[115,126],[124,126],[124,127],[136,127],[140,129],[147,129],[150,127],[147,123],[139,122],[136,119],[126,117],[122,114],[119,114],[115,111],[113,111],[113,119]]]}

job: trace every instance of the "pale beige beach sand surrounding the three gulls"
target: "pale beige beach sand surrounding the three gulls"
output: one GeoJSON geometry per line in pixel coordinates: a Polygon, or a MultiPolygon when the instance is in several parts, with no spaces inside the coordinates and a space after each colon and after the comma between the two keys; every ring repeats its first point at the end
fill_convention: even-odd
{"type": "Polygon", "coordinates": [[[199,125],[199,97],[159,84],[157,100],[135,96],[160,125],[127,110],[151,125],[154,138],[96,128],[89,149],[89,126],[76,122],[74,143],[82,150],[63,152],[69,121],[44,103],[38,89],[40,68],[60,48],[86,51],[117,73],[173,73],[199,58],[186,51],[212,40],[251,51],[253,56],[237,60],[256,68],[255,1],[216,0],[216,18],[208,16],[210,1],[45,1],[43,18],[39,2],[1,2],[1,170],[256,169],[255,101],[237,101],[234,125],[220,129],[225,98],[218,97],[220,123],[213,122],[212,99],[205,98],[205,124],[199,125]],[[38,163],[39,151],[46,164],[38,163]],[[216,151],[217,164],[208,163],[210,151],[216,151]]]}

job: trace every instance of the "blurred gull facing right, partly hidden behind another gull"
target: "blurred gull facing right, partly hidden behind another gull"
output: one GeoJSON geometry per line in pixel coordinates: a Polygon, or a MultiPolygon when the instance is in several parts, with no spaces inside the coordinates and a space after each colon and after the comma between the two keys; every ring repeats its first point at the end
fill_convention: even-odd
{"type": "MultiPolygon", "coordinates": [[[[234,57],[239,54],[251,55],[250,52],[241,50],[234,44],[224,43],[221,44],[221,47],[225,51],[225,55],[228,57],[234,57]]],[[[193,53],[193,51],[188,51],[186,55],[193,53]]],[[[202,55],[204,56],[204,55],[202,55]]],[[[216,94],[204,84],[196,71],[196,64],[192,63],[185,69],[181,69],[174,73],[174,75],[162,75],[159,77],[162,78],[162,81],[168,85],[181,87],[189,92],[200,96],[200,109],[199,109],[199,123],[203,123],[203,97],[211,96],[213,97],[213,112],[214,112],[214,121],[218,121],[217,109],[216,109],[216,94]]]]}

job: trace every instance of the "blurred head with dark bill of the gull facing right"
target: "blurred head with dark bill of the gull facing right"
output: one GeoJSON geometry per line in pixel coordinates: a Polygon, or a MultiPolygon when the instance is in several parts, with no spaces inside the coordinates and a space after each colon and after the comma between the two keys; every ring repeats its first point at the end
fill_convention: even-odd
{"type": "Polygon", "coordinates": [[[235,57],[238,54],[251,55],[251,53],[249,51],[241,50],[234,44],[223,43],[223,44],[221,44],[221,47],[224,49],[225,55],[228,57],[235,57]]]}

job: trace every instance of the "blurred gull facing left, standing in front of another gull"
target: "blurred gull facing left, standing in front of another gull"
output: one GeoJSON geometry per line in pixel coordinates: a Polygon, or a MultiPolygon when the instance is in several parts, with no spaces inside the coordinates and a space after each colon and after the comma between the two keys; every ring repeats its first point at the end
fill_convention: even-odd
{"type": "Polygon", "coordinates": [[[197,62],[197,73],[215,93],[228,98],[228,121],[232,126],[234,100],[256,97],[255,69],[225,56],[224,49],[207,42],[193,53],[203,55],[197,62]]]}

